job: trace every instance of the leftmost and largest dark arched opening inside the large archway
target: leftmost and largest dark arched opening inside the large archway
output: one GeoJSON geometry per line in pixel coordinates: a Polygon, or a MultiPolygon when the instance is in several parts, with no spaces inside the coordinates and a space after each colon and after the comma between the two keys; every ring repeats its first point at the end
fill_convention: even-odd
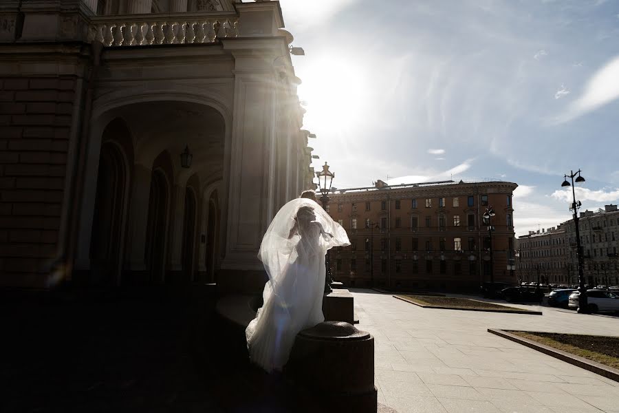
{"type": "Polygon", "coordinates": [[[113,142],[105,142],[99,156],[90,240],[90,282],[94,285],[115,286],[120,282],[127,178],[127,168],[120,149],[113,142]]]}

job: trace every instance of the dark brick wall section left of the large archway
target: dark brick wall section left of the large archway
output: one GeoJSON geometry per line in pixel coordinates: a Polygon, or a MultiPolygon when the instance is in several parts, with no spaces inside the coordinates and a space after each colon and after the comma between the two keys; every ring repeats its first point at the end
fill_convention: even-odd
{"type": "Polygon", "coordinates": [[[0,286],[47,286],[75,88],[75,76],[0,78],[0,286]]]}

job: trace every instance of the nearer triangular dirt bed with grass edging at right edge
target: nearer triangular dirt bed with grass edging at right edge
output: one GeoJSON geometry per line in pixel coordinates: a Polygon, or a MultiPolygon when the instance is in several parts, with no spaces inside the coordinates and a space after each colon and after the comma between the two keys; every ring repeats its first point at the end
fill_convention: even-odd
{"type": "Polygon", "coordinates": [[[619,337],[558,334],[554,332],[510,332],[545,346],[619,369],[619,337]]]}

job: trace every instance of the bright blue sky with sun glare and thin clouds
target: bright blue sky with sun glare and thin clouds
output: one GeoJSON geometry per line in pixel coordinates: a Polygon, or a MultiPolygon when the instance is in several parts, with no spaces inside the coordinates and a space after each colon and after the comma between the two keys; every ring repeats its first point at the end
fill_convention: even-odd
{"type": "Polygon", "coordinates": [[[338,188],[516,182],[517,235],[619,202],[619,0],[281,0],[338,188]]]}

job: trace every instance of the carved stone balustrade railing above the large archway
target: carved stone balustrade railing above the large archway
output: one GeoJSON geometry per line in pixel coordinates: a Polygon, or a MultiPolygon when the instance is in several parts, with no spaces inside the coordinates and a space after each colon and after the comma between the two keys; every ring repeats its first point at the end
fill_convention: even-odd
{"type": "Polygon", "coordinates": [[[131,14],[92,17],[87,40],[105,46],[213,43],[237,37],[234,12],[131,14]]]}

